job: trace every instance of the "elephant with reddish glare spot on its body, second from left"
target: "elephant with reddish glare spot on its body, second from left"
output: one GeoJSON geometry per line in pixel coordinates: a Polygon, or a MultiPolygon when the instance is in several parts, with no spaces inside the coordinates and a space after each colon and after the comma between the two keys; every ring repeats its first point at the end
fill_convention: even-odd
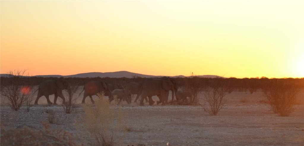
{"type": "MultiPolygon", "coordinates": [[[[86,97],[90,97],[91,102],[95,103],[92,95],[97,95],[97,93],[99,92],[104,92],[105,96],[109,96],[109,99],[111,97],[111,91],[109,90],[109,84],[104,82],[104,81],[90,81],[87,82],[84,86],[83,86],[83,90],[85,90],[85,92],[83,93],[83,99],[81,103],[85,103],[85,98],[86,97]]],[[[83,90],[79,93],[79,95],[83,92],[83,90]]]]}

